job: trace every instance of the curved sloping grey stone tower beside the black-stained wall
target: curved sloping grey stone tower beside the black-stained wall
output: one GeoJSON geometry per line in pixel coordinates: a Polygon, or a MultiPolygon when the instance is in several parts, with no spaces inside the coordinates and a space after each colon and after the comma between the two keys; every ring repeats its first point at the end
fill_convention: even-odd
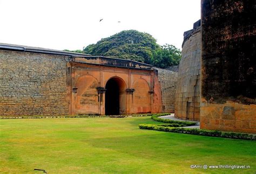
{"type": "Polygon", "coordinates": [[[177,78],[175,117],[183,120],[200,120],[200,67],[201,21],[184,32],[182,57],[177,78]]]}

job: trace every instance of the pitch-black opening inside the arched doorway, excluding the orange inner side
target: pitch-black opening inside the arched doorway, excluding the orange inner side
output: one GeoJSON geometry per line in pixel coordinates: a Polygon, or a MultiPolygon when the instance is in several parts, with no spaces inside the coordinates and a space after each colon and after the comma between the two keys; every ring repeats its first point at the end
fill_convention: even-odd
{"type": "Polygon", "coordinates": [[[115,78],[111,78],[107,81],[105,93],[105,114],[106,115],[119,115],[119,92],[120,87],[115,78]]]}

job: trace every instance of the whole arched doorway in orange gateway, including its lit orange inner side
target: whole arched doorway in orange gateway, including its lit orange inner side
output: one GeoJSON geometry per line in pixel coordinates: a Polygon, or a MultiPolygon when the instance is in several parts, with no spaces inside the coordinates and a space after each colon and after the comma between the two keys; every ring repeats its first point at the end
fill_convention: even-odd
{"type": "Polygon", "coordinates": [[[125,83],[119,77],[110,78],[107,81],[105,93],[105,114],[119,115],[126,113],[125,83]]]}

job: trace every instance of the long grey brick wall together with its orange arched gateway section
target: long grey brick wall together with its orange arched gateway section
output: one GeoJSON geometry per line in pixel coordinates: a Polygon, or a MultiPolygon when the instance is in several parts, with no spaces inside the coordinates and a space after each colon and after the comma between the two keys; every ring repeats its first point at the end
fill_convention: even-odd
{"type": "Polygon", "coordinates": [[[1,118],[159,113],[160,86],[148,64],[0,44],[1,118]]]}

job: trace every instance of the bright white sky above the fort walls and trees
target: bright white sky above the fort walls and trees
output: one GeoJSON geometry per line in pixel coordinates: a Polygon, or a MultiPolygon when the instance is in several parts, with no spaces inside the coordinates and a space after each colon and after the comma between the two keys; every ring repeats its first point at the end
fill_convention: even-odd
{"type": "Polygon", "coordinates": [[[200,0],[0,0],[0,16],[0,43],[76,50],[138,30],[181,49],[200,0]]]}

